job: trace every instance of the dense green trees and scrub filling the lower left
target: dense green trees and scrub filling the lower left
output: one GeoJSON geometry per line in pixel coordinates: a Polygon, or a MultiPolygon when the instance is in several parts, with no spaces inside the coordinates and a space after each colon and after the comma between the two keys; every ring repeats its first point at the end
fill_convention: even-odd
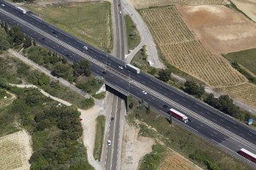
{"type": "Polygon", "coordinates": [[[32,135],[31,169],[92,169],[80,139],[83,129],[76,107],[58,105],[38,89],[15,88],[3,82],[0,86],[17,96],[13,105],[0,113],[7,116],[1,119],[1,135],[18,131],[17,124],[32,135]]]}

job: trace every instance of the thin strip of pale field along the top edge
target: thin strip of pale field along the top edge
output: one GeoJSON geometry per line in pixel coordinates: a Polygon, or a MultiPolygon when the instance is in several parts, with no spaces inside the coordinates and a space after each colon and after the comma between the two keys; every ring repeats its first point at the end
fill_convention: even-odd
{"type": "Polygon", "coordinates": [[[166,5],[202,5],[202,4],[227,4],[227,0],[129,0],[135,8],[148,8],[166,5]]]}

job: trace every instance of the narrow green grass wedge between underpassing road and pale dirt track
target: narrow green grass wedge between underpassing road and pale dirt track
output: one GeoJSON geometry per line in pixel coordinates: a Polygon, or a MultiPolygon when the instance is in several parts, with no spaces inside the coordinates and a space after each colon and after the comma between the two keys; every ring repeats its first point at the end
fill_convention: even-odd
{"type": "Polygon", "coordinates": [[[136,48],[141,42],[141,37],[139,35],[139,32],[137,31],[136,25],[133,23],[130,15],[128,14],[125,14],[125,31],[128,50],[132,50],[136,48]]]}

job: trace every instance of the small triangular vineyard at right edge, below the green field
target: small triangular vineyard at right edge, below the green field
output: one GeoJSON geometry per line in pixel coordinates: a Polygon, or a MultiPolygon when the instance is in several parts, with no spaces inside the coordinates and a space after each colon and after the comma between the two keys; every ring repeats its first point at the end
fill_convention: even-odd
{"type": "Polygon", "coordinates": [[[256,109],[256,86],[252,83],[244,83],[229,88],[221,88],[221,92],[229,94],[233,99],[239,99],[241,102],[251,105],[256,109]]]}

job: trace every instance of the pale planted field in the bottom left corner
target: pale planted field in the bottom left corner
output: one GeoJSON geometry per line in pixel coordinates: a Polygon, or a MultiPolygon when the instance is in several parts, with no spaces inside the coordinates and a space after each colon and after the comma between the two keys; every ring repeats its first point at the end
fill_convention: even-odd
{"type": "Polygon", "coordinates": [[[29,169],[28,159],[32,154],[28,135],[23,132],[12,133],[0,138],[1,170],[29,169]]]}

